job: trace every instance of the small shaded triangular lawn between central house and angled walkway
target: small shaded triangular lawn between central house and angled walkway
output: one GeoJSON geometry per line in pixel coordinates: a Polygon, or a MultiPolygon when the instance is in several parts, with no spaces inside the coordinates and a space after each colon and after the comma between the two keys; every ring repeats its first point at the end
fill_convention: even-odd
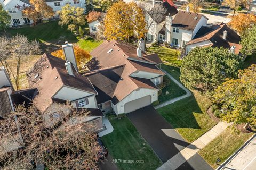
{"type": "MultiPolygon", "coordinates": [[[[169,79],[165,76],[164,79],[169,79]]],[[[162,89],[161,95],[158,96],[159,103],[163,103],[164,101],[173,99],[175,97],[179,97],[186,94],[186,91],[180,88],[176,83],[174,83],[171,79],[169,86],[165,86],[162,89]],[[166,94],[167,92],[167,94],[166,94]]]]}

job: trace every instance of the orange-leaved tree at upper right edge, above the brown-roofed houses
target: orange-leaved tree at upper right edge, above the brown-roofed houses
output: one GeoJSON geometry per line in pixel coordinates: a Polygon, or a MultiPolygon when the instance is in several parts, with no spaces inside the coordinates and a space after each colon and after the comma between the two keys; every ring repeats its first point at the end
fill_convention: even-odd
{"type": "Polygon", "coordinates": [[[232,18],[228,25],[242,35],[245,30],[256,25],[256,16],[251,14],[239,14],[232,18]]]}

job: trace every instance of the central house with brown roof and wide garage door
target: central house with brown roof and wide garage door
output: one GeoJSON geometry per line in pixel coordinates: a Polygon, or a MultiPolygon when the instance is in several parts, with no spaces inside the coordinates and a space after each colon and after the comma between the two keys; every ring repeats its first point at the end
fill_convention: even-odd
{"type": "Polygon", "coordinates": [[[129,113],[157,101],[157,86],[165,75],[158,69],[162,61],[156,53],[146,54],[141,49],[112,40],[91,52],[93,58],[87,64],[90,72],[84,76],[98,92],[96,100],[102,111],[129,113]]]}

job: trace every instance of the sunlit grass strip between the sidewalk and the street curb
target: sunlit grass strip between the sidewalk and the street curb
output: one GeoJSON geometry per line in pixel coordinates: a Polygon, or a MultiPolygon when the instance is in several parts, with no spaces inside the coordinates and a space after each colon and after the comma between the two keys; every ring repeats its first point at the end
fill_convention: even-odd
{"type": "Polygon", "coordinates": [[[220,158],[223,163],[252,135],[253,133],[239,132],[234,126],[231,126],[199,151],[199,154],[215,169],[218,167],[215,163],[217,158],[220,158]]]}

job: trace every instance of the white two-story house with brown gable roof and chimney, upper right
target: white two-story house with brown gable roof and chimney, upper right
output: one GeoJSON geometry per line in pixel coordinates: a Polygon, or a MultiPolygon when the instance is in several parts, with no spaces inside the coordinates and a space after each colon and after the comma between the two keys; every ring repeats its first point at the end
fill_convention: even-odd
{"type": "Polygon", "coordinates": [[[185,47],[198,30],[207,25],[206,16],[198,13],[179,11],[174,19],[166,16],[166,41],[174,46],[185,47]]]}

